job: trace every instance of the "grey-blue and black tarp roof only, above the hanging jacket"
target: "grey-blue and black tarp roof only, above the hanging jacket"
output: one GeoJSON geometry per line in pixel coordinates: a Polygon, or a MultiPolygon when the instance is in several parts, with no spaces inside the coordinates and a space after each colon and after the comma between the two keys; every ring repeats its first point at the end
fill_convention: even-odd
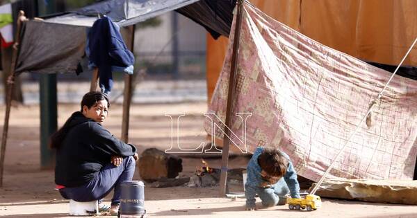
{"type": "Polygon", "coordinates": [[[220,35],[229,37],[235,6],[236,0],[110,0],[45,21],[90,27],[98,15],[106,15],[119,26],[130,26],[167,11],[177,10],[181,15],[204,26],[217,39],[220,35]]]}

